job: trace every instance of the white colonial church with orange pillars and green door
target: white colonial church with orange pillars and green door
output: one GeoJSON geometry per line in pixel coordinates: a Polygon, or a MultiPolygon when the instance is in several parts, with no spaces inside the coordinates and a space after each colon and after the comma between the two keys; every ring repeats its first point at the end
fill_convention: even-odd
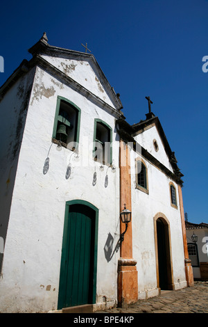
{"type": "Polygon", "coordinates": [[[93,54],[46,33],[28,51],[0,88],[0,312],[96,312],[193,286],[182,173],[150,97],[130,125],[93,54]]]}

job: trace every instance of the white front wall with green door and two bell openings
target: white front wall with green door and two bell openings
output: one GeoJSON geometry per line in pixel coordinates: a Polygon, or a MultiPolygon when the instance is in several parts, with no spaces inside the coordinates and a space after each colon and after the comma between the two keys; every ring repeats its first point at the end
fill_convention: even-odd
{"type": "Polygon", "coordinates": [[[73,161],[74,152],[65,148],[58,152],[56,145],[51,145],[58,95],[81,109],[80,145],[84,136],[93,140],[94,118],[107,122],[113,140],[117,137],[112,115],[37,67],[12,196],[0,282],[1,312],[57,308],[65,203],[75,199],[91,202],[99,209],[96,301],[101,303],[105,296],[114,303],[117,298],[119,253],[107,262],[104,246],[109,233],[114,238],[113,246],[119,238],[119,142],[112,156],[116,173],[107,166],[101,172],[86,147],[80,146],[80,159],[89,163],[84,167],[73,161]],[[44,175],[46,157],[50,163],[44,175]],[[66,180],[69,160],[72,171],[66,180]],[[95,169],[97,182],[93,186],[95,169]]]}

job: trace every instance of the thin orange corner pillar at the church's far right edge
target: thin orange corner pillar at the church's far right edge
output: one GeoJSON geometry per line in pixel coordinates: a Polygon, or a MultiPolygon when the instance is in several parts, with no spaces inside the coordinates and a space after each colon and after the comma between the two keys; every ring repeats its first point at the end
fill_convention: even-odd
{"type": "Polygon", "coordinates": [[[180,216],[182,223],[182,236],[184,241],[184,257],[185,257],[185,273],[187,278],[187,286],[191,287],[194,285],[193,283],[193,268],[191,266],[191,260],[189,259],[188,246],[187,246],[187,233],[186,226],[184,220],[184,205],[182,198],[182,188],[178,185],[178,194],[179,194],[179,202],[180,202],[180,216]]]}

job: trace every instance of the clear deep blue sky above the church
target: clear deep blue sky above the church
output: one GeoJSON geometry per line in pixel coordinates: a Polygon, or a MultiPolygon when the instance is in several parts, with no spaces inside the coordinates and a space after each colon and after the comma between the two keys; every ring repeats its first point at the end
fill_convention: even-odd
{"type": "Polygon", "coordinates": [[[130,124],[146,118],[150,95],[184,174],[184,211],[208,223],[207,18],[207,0],[3,1],[0,85],[44,31],[57,47],[85,51],[87,42],[130,124]]]}

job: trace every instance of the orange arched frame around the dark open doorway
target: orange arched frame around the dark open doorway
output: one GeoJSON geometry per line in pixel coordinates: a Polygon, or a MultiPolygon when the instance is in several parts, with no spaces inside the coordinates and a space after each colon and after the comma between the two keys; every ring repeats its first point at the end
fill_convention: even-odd
{"type": "Polygon", "coordinates": [[[155,260],[156,260],[156,276],[157,276],[157,288],[159,287],[159,261],[158,261],[158,249],[157,249],[157,219],[164,223],[165,232],[165,243],[166,243],[166,265],[167,265],[167,277],[168,277],[168,289],[175,289],[173,283],[173,261],[172,261],[172,250],[171,250],[171,229],[168,218],[162,212],[158,212],[154,216],[154,234],[155,234],[155,260]]]}

